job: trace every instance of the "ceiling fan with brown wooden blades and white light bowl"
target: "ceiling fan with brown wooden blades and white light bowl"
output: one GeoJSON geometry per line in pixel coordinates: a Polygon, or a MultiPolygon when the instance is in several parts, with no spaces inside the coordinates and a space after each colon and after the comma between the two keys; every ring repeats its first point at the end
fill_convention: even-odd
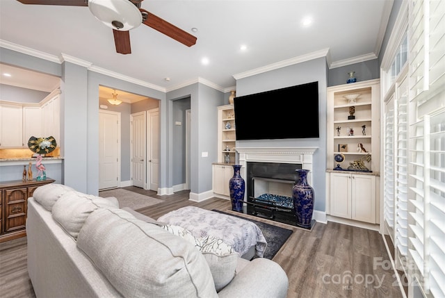
{"type": "Polygon", "coordinates": [[[113,28],[118,53],[131,53],[129,30],[145,24],[168,37],[193,46],[197,38],[169,22],[140,8],[143,0],[17,0],[24,4],[88,6],[92,15],[106,26],[113,28]]]}

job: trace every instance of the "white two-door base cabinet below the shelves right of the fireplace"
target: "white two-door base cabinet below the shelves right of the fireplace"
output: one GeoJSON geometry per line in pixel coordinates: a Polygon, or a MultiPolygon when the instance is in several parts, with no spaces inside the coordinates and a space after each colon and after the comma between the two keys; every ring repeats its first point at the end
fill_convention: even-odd
{"type": "Polygon", "coordinates": [[[330,215],[375,224],[375,202],[375,176],[330,174],[330,215]]]}

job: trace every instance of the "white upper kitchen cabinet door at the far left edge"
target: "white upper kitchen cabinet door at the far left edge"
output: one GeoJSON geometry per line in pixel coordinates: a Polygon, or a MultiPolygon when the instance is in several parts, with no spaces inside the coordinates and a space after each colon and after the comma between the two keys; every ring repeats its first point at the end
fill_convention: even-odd
{"type": "Polygon", "coordinates": [[[22,148],[23,115],[22,106],[0,105],[0,148],[22,148]]]}

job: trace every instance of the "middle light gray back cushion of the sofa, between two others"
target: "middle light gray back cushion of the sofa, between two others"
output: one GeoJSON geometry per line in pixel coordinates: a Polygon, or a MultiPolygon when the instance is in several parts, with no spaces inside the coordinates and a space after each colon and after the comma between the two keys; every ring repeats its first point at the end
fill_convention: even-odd
{"type": "Polygon", "coordinates": [[[56,201],[52,208],[52,215],[67,233],[77,239],[77,235],[90,213],[97,208],[104,207],[119,208],[118,199],[115,197],[105,199],[92,194],[72,191],[63,194],[56,201]]]}

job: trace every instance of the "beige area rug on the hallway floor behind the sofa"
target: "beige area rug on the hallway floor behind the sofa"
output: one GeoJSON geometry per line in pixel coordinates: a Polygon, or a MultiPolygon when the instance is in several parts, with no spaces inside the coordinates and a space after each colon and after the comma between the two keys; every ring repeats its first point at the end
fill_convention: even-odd
{"type": "Polygon", "coordinates": [[[116,188],[114,190],[103,190],[99,192],[100,197],[115,197],[119,201],[119,207],[128,207],[133,210],[145,208],[154,204],[163,202],[161,199],[155,199],[144,194],[138,194],[137,192],[131,192],[122,188],[116,188]]]}

